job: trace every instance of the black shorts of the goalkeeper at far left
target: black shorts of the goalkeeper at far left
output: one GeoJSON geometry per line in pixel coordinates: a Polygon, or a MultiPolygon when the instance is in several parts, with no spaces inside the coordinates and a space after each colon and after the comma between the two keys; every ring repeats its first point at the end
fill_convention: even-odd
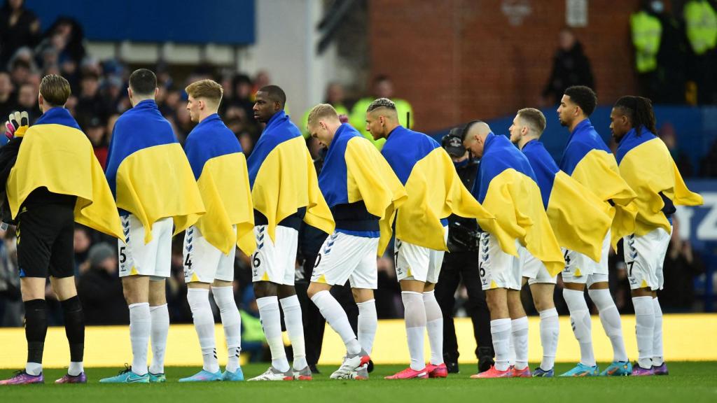
{"type": "Polygon", "coordinates": [[[75,275],[75,209],[68,204],[30,204],[17,215],[20,277],[75,275]]]}

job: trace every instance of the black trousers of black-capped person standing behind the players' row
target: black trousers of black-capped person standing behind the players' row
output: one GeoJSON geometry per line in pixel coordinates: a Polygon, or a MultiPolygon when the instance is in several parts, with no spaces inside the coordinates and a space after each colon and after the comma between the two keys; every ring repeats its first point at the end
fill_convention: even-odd
{"type": "Polygon", "coordinates": [[[473,336],[478,350],[490,348],[493,351],[493,338],[490,336],[490,311],[485,302],[485,292],[480,286],[477,252],[446,253],[441,274],[436,285],[435,295],[443,313],[443,357],[446,363],[458,362],[458,341],[455,336],[453,314],[455,312],[455,291],[460,283],[465,285],[468,301],[464,305],[473,321],[473,336]]]}

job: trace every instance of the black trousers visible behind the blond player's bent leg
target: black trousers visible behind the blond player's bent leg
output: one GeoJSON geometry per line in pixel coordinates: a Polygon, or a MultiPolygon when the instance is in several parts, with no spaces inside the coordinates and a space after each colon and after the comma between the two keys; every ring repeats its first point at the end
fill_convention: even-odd
{"type": "MultiPolygon", "coordinates": [[[[294,288],[296,296],[301,305],[301,318],[304,324],[304,346],[306,349],[306,362],[309,366],[315,366],[321,356],[323,344],[323,332],[326,328],[326,319],[323,318],[316,305],[308,298],[307,290],[313,273],[315,256],[309,256],[303,264],[303,280],[296,281],[294,288]]],[[[331,295],[338,300],[348,316],[348,323],[351,323],[353,333],[359,323],[359,307],[353,301],[351,288],[348,285],[335,285],[331,288],[331,295]]]]}

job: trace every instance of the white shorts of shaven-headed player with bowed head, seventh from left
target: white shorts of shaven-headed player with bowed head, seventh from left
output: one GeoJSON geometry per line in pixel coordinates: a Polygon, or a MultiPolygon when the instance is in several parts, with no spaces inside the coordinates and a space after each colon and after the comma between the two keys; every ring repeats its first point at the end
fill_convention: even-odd
{"type": "MultiPolygon", "coordinates": [[[[520,255],[521,247],[516,240],[520,255]]],[[[480,252],[478,252],[478,274],[483,290],[508,288],[520,290],[523,285],[521,258],[508,255],[500,249],[498,238],[488,232],[480,234],[480,252]]]]}

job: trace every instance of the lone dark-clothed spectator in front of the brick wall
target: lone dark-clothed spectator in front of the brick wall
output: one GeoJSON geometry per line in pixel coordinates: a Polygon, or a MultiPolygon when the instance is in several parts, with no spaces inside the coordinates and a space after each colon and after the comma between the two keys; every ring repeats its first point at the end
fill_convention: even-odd
{"type": "Polygon", "coordinates": [[[569,28],[563,28],[559,34],[559,47],[553,57],[553,68],[543,89],[543,104],[556,105],[560,102],[567,87],[587,85],[594,88],[590,61],[583,51],[582,44],[569,28]]]}

